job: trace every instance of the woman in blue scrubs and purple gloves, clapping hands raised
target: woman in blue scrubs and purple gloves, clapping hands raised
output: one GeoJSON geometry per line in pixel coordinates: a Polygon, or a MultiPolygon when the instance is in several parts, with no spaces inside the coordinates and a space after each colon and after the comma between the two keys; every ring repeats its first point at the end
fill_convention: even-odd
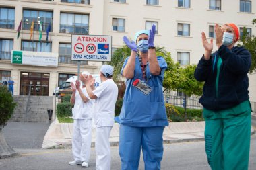
{"type": "Polygon", "coordinates": [[[138,169],[142,149],[145,169],[160,169],[163,155],[162,134],[168,126],[162,82],[167,67],[162,56],[156,56],[154,35],[151,30],[141,30],[130,42],[131,48],[121,75],[126,78],[126,91],[121,113],[115,118],[120,124],[119,155],[121,169],[138,169]]]}

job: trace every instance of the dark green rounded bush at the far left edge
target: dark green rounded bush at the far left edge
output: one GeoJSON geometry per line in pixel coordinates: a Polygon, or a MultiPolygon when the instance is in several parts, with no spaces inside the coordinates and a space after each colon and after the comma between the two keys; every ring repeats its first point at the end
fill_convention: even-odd
{"type": "Polygon", "coordinates": [[[0,130],[6,126],[7,121],[11,118],[16,107],[11,93],[9,93],[6,86],[0,85],[0,130]]]}

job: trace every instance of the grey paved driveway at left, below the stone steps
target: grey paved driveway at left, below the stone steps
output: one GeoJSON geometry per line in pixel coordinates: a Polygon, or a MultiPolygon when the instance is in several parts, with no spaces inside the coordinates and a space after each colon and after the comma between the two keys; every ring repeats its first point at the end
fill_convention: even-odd
{"type": "Polygon", "coordinates": [[[49,123],[8,122],[3,134],[11,148],[42,148],[49,126],[49,123]]]}

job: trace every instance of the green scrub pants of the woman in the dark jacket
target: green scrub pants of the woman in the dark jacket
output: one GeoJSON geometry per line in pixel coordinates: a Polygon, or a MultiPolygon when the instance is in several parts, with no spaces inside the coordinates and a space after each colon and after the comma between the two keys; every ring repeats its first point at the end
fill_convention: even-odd
{"type": "Polygon", "coordinates": [[[249,163],[251,114],[205,121],[205,152],[212,170],[246,170],[249,163]]]}

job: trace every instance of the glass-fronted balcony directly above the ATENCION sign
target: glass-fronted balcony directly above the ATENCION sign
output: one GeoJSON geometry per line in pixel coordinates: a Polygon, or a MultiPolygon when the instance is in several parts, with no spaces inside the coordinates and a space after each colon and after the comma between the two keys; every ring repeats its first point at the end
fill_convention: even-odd
{"type": "Polygon", "coordinates": [[[68,34],[89,34],[88,24],[73,24],[73,25],[64,25],[59,26],[59,32],[68,33],[68,34]],[[80,26],[77,26],[80,25],[80,26]],[[84,25],[84,26],[81,26],[84,25]]]}

